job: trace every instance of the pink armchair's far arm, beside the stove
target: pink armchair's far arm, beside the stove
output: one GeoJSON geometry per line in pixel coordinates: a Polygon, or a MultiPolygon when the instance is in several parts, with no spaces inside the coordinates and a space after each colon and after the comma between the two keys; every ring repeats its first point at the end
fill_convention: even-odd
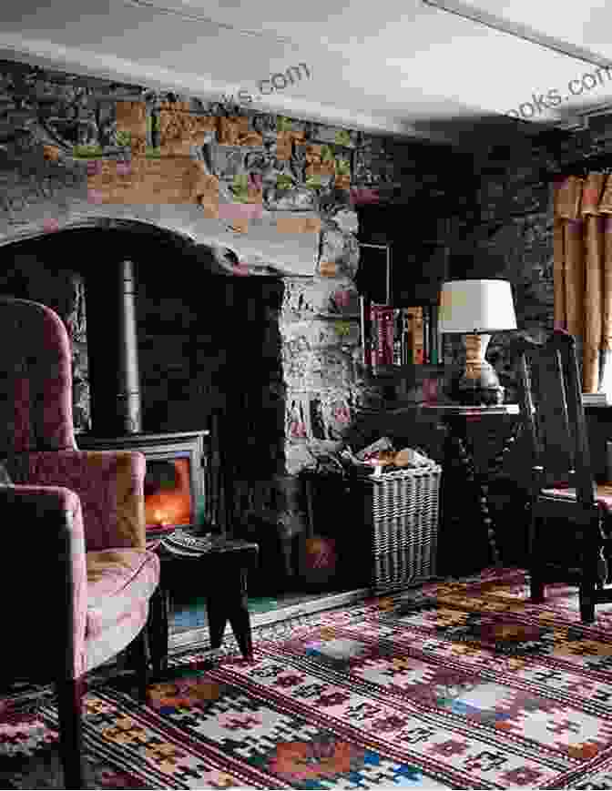
{"type": "Polygon", "coordinates": [[[15,483],[66,486],[83,509],[87,551],[146,547],[145,457],[133,451],[33,451],[6,460],[15,483]]]}

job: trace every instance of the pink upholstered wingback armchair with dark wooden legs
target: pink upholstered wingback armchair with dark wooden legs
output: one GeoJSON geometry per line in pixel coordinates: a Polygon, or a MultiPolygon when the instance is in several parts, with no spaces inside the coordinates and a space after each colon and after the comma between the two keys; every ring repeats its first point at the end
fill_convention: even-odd
{"type": "Polygon", "coordinates": [[[145,458],[78,451],[70,342],[53,310],[0,298],[0,486],[5,678],[56,683],[66,787],[83,787],[88,670],[128,645],[148,681],[149,600],[159,559],[145,543],[145,458]]]}

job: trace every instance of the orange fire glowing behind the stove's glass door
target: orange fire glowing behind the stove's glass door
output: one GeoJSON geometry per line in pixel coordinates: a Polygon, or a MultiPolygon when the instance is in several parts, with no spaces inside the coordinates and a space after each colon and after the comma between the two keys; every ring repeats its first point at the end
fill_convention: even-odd
{"type": "Polygon", "coordinates": [[[145,481],[147,527],[192,522],[189,459],[148,461],[145,481]]]}

